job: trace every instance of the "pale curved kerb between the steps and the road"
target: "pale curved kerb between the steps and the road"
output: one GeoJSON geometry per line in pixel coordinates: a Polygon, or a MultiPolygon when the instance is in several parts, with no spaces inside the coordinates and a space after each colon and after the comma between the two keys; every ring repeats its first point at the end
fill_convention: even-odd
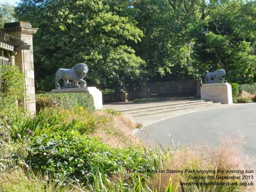
{"type": "Polygon", "coordinates": [[[164,121],[166,119],[170,119],[170,118],[173,118],[173,117],[177,117],[177,116],[181,116],[181,115],[186,115],[186,114],[191,114],[191,113],[197,113],[197,112],[201,112],[201,111],[217,110],[217,109],[228,108],[228,107],[232,107],[232,106],[245,105],[245,104],[253,104],[253,103],[222,104],[223,106],[221,106],[219,108],[203,109],[203,110],[198,110],[198,111],[190,111],[190,112],[183,113],[183,114],[177,114],[177,115],[173,115],[171,117],[166,117],[166,118],[159,119],[159,120],[156,120],[156,121],[151,122],[151,123],[147,123],[147,124],[143,125],[142,127],[140,127],[139,129],[134,130],[132,133],[134,134],[136,131],[143,129],[144,127],[150,126],[151,124],[154,124],[154,123],[157,123],[157,122],[160,122],[160,121],[164,121]]]}

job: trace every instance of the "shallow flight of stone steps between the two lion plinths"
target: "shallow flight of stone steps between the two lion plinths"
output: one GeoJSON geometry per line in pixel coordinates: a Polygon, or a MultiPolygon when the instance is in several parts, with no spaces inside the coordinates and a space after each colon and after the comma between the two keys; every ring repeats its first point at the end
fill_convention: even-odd
{"type": "Polygon", "coordinates": [[[129,110],[119,110],[123,114],[127,114],[132,117],[138,117],[143,115],[151,115],[151,114],[159,114],[159,113],[166,113],[172,112],[177,110],[184,110],[190,108],[197,108],[201,106],[207,105],[219,105],[221,103],[214,103],[212,101],[204,101],[204,100],[196,100],[196,99],[173,99],[168,100],[168,102],[158,103],[157,105],[153,106],[145,106],[145,107],[138,107],[129,110]]]}

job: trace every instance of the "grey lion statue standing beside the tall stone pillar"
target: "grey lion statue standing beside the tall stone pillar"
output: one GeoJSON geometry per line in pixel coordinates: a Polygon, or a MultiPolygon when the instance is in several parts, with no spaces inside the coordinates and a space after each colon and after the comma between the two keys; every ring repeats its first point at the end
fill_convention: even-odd
{"type": "Polygon", "coordinates": [[[78,63],[71,69],[58,69],[55,75],[55,89],[86,88],[87,83],[83,78],[86,77],[88,71],[86,63],[78,63]],[[63,80],[63,87],[58,83],[60,79],[63,80]]]}

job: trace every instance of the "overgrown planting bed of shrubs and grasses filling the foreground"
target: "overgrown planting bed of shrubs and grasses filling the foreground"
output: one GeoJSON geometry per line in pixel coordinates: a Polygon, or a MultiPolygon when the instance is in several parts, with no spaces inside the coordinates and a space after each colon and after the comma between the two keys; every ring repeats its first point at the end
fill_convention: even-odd
{"type": "Polygon", "coordinates": [[[253,191],[249,186],[182,187],[180,182],[202,182],[188,179],[189,175],[197,176],[188,173],[127,173],[126,169],[250,168],[241,151],[240,140],[225,138],[219,148],[151,150],[133,138],[131,132],[135,127],[131,119],[113,110],[90,111],[80,106],[46,108],[35,117],[18,116],[15,120],[2,116],[0,143],[5,147],[1,147],[0,190],[253,191]]]}

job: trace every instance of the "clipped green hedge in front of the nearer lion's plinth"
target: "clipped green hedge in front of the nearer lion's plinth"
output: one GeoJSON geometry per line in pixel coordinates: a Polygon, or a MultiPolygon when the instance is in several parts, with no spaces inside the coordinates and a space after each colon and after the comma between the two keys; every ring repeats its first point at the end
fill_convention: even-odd
{"type": "Polygon", "coordinates": [[[80,93],[44,93],[36,95],[36,110],[59,106],[70,109],[74,106],[81,106],[94,110],[93,97],[90,94],[80,93]]]}

